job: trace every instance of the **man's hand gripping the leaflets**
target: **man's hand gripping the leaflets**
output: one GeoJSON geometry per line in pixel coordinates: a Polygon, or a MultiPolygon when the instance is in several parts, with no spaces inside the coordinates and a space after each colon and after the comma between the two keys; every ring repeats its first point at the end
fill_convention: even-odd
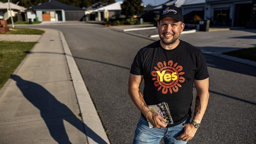
{"type": "Polygon", "coordinates": [[[163,122],[166,122],[166,119],[161,117],[160,114],[158,113],[148,113],[148,121],[152,124],[153,127],[156,128],[165,128],[167,126],[167,124],[164,124],[163,122]]]}

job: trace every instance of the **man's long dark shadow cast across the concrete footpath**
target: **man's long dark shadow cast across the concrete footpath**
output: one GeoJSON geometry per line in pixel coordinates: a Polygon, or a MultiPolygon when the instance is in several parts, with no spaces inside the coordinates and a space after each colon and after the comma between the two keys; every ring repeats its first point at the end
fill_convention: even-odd
{"type": "Polygon", "coordinates": [[[49,129],[50,135],[59,144],[71,144],[66,133],[63,120],[69,122],[79,131],[85,134],[83,126],[87,129],[86,135],[99,144],[107,144],[95,132],[86,126],[65,104],[59,102],[48,90],[37,83],[26,81],[20,76],[12,75],[11,79],[16,81],[23,96],[40,110],[41,117],[49,129]],[[26,83],[28,88],[24,89],[20,84],[26,83]]]}

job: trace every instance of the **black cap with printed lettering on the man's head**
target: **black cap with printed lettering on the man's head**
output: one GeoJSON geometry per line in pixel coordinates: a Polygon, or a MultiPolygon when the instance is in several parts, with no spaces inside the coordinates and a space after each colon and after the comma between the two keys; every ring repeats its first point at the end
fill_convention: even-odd
{"type": "Polygon", "coordinates": [[[181,21],[183,22],[183,15],[182,15],[182,11],[180,8],[176,7],[176,6],[167,6],[167,7],[163,7],[160,10],[160,17],[159,20],[165,18],[165,17],[172,17],[175,20],[177,20],[178,22],[181,21]]]}

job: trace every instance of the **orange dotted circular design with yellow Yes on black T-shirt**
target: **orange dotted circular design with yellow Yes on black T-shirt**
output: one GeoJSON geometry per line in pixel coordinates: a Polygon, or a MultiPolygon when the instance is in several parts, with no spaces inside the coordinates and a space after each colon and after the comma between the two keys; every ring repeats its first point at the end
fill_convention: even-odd
{"type": "Polygon", "coordinates": [[[169,91],[171,94],[173,92],[178,92],[179,87],[181,88],[181,83],[184,83],[185,78],[182,77],[185,72],[181,72],[183,67],[173,61],[158,62],[157,66],[154,66],[151,75],[154,77],[154,86],[158,87],[158,91],[161,90],[163,94],[167,94],[169,91]]]}

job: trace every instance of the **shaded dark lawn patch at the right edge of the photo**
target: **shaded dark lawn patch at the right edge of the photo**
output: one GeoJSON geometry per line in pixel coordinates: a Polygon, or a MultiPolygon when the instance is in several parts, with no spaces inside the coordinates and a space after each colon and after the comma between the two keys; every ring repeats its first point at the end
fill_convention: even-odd
{"type": "Polygon", "coordinates": [[[236,50],[232,52],[225,52],[225,55],[230,55],[233,57],[239,57],[242,59],[248,59],[250,61],[256,61],[256,46],[252,48],[245,48],[242,50],[236,50]]]}

